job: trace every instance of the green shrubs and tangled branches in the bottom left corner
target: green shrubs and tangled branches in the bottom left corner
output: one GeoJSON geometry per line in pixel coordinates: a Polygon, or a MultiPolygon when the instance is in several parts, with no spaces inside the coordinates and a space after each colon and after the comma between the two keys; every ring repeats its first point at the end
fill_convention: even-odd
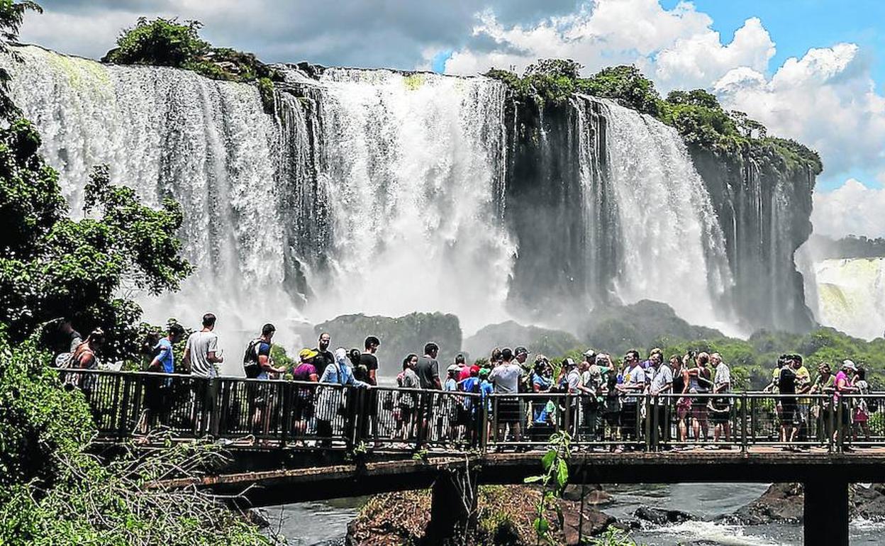
{"type": "Polygon", "coordinates": [[[0,332],[0,544],[267,544],[235,512],[194,490],[150,487],[219,460],[189,445],[101,462],[80,391],[61,387],[35,342],[0,332]]]}

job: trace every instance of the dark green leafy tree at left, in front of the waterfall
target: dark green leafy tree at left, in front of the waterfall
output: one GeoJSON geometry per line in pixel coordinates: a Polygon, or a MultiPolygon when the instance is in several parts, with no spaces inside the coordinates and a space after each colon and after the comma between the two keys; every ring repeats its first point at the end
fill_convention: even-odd
{"type": "Polygon", "coordinates": [[[92,218],[67,218],[58,175],[37,154],[40,137],[25,120],[0,130],[0,322],[21,342],[53,319],[67,317],[108,335],[106,357],[138,352],[141,309],[121,288],[175,290],[191,266],[176,234],[181,207],[159,210],[131,188],[113,186],[96,167],[85,189],[92,218]]]}

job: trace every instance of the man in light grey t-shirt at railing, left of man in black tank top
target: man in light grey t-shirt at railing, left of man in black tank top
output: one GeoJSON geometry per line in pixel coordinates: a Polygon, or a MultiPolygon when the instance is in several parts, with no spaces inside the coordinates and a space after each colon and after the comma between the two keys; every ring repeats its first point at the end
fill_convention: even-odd
{"type": "Polygon", "coordinates": [[[224,362],[219,354],[219,336],[215,329],[215,315],[211,312],[203,315],[203,329],[188,336],[184,346],[184,367],[190,370],[196,387],[196,404],[194,404],[196,420],[200,416],[200,427],[208,425],[209,415],[215,407],[215,396],[211,379],[218,376],[216,364],[224,362]]]}

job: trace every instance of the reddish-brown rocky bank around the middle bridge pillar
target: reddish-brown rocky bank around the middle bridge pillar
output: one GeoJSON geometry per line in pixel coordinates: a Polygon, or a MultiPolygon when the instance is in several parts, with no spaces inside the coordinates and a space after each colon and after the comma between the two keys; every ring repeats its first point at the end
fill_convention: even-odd
{"type": "MultiPolygon", "coordinates": [[[[469,544],[529,546],[537,543],[532,522],[541,491],[527,486],[485,486],[477,503],[477,531],[469,544]]],[[[578,544],[584,537],[603,534],[617,521],[598,510],[609,497],[599,488],[588,488],[581,514],[581,488],[570,488],[558,500],[563,515],[559,527],[555,510],[547,518],[559,544],[578,544]],[[580,533],[579,533],[580,529],[580,533]]],[[[430,519],[430,491],[404,491],[373,496],[347,529],[348,546],[419,544],[430,519]]]]}

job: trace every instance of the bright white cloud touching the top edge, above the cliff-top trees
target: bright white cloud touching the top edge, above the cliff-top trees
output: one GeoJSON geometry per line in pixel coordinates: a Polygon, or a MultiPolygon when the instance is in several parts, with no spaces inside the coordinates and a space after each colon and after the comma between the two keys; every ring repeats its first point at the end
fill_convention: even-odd
{"type": "Polygon", "coordinates": [[[656,0],[595,0],[576,12],[543,19],[534,26],[505,27],[495,13],[478,16],[473,36],[496,42],[492,50],[456,50],[449,73],[489,68],[524,69],[537,58],[573,58],[591,73],[609,65],[634,63],[654,76],[658,87],[708,87],[736,66],[765,70],[774,43],[759,19],[747,19],[728,44],[712,30],[712,19],[682,2],[672,10],[656,0]]]}

